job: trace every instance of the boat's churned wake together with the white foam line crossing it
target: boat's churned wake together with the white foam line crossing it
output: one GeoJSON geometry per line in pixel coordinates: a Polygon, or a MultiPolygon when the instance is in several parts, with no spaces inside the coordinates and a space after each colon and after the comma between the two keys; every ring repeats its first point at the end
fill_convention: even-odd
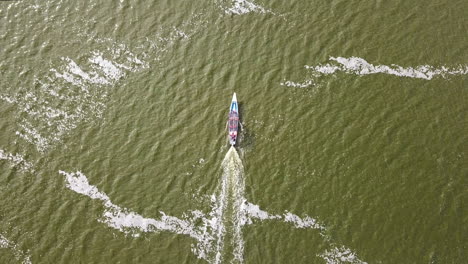
{"type": "Polygon", "coordinates": [[[316,219],[299,217],[291,212],[270,214],[245,198],[244,167],[236,149],[231,146],[221,163],[218,190],[211,196],[208,213],[189,211],[181,217],[159,212],[159,218],[147,218],[114,204],[109,196],[89,183],[80,171],[59,171],[65,176],[66,186],[79,194],[101,201],[105,207],[99,222],[134,237],[141,233],[168,231],[187,235],[195,240],[192,252],[208,263],[243,263],[244,239],[242,229],[257,221],[281,221],[299,229],[316,229],[329,249],[318,255],[326,263],[365,263],[349,248],[330,242],[326,228],[316,219]]]}

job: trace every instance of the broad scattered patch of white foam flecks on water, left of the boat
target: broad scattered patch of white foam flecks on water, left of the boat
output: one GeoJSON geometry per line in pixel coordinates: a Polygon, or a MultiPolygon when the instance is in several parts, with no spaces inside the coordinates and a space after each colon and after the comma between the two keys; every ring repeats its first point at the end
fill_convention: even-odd
{"type": "Polygon", "coordinates": [[[52,58],[45,73],[34,72],[40,77],[30,87],[2,91],[0,100],[17,108],[15,135],[44,153],[83,122],[99,122],[112,87],[129,74],[149,68],[148,61],[158,61],[174,44],[189,39],[207,23],[204,17],[194,14],[180,27],[161,28],[146,40],[133,41],[131,48],[72,26],[76,36],[102,48],[86,51],[83,47],[80,58],[52,58]]]}

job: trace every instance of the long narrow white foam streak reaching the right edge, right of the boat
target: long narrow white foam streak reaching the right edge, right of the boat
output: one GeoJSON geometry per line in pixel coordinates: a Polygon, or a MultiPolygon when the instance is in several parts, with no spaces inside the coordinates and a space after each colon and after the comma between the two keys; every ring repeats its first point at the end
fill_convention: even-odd
{"type": "Polygon", "coordinates": [[[435,77],[447,78],[452,75],[466,75],[468,74],[468,66],[460,65],[458,67],[449,68],[446,66],[434,67],[430,65],[420,65],[416,67],[402,67],[392,64],[388,65],[373,65],[363,58],[359,57],[330,57],[332,63],[327,63],[317,66],[308,66],[305,68],[313,70],[314,73],[329,75],[336,72],[345,72],[356,75],[368,74],[389,74],[400,77],[418,78],[425,80],[432,80],[435,77]]]}

